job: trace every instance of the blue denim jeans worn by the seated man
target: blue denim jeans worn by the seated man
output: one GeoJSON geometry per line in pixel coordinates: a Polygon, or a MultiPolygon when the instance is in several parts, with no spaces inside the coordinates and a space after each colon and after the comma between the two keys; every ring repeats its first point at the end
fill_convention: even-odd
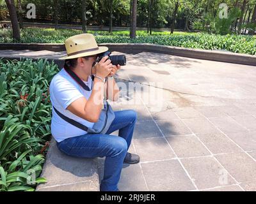
{"type": "Polygon", "coordinates": [[[58,149],[68,156],[106,157],[100,191],[118,191],[117,184],[124,158],[131,145],[136,120],[137,113],[134,110],[116,111],[115,120],[113,120],[106,135],[88,133],[68,138],[57,143],[58,149]],[[110,135],[118,129],[118,136],[110,135]]]}

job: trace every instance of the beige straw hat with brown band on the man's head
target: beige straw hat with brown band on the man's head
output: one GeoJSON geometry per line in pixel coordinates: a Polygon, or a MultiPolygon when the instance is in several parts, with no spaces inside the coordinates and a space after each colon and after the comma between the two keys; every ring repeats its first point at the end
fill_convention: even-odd
{"type": "Polygon", "coordinates": [[[98,47],[93,34],[77,34],[65,40],[67,55],[60,59],[75,59],[108,51],[108,47],[98,47]]]}

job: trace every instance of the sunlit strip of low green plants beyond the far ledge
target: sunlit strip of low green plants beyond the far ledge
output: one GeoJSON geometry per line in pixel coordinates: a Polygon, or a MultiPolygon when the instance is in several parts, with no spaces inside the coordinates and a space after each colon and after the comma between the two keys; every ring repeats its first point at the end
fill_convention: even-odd
{"type": "MultiPolygon", "coordinates": [[[[12,43],[12,31],[0,30],[0,43],[12,43]]],[[[20,43],[64,43],[73,35],[82,31],[73,29],[38,29],[26,28],[21,32],[20,43]]],[[[244,35],[216,35],[206,33],[153,32],[137,31],[137,38],[131,40],[129,31],[114,31],[112,35],[108,31],[88,31],[95,35],[98,43],[152,43],[156,45],[169,45],[186,48],[199,48],[205,50],[228,50],[241,54],[256,55],[256,36],[244,35]]]]}

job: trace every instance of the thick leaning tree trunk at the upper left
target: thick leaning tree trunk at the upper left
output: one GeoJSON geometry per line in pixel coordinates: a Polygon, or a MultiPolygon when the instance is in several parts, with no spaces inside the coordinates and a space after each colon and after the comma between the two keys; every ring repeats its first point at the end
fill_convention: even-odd
{"type": "Polygon", "coordinates": [[[5,2],[8,7],[10,19],[12,22],[13,39],[19,41],[20,40],[20,27],[19,27],[19,23],[18,23],[17,10],[15,8],[14,0],[5,0],[5,2]]]}

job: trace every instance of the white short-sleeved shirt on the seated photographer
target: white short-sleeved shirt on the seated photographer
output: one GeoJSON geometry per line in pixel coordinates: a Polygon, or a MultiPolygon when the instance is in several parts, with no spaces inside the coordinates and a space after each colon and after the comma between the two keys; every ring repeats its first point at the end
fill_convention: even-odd
{"type": "MultiPolygon", "coordinates": [[[[92,78],[88,77],[88,82],[84,83],[91,89],[93,83],[92,78]]],[[[70,103],[76,101],[76,99],[85,97],[88,100],[91,94],[92,91],[85,91],[72,77],[70,77],[70,75],[68,75],[65,69],[61,69],[61,71],[52,78],[50,84],[52,105],[63,115],[80,122],[88,128],[92,128],[94,123],[84,120],[81,117],[77,117],[66,110],[66,108],[70,103]]],[[[76,128],[76,126],[61,119],[52,108],[51,133],[57,142],[61,142],[67,138],[84,135],[87,132],[76,128]]]]}

